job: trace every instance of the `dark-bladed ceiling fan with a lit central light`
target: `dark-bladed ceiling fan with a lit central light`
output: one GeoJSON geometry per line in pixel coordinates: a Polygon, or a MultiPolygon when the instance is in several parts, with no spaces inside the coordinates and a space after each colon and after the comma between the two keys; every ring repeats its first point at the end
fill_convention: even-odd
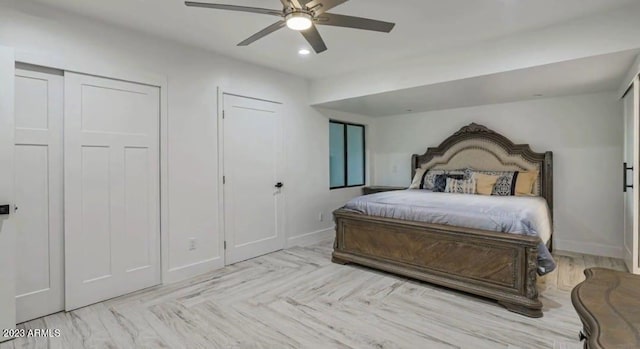
{"type": "Polygon", "coordinates": [[[324,40],[322,40],[316,25],[331,25],[335,27],[373,30],[384,33],[390,32],[395,26],[395,23],[327,13],[328,10],[347,1],[348,0],[280,0],[283,6],[282,11],[258,7],[210,4],[193,1],[186,1],[185,5],[190,7],[259,13],[282,18],[276,23],[253,34],[248,39],[239,43],[238,46],[247,46],[256,40],[287,26],[290,29],[299,31],[309,42],[311,47],[313,47],[313,50],[316,51],[316,53],[321,53],[327,50],[327,45],[325,45],[324,40]]]}

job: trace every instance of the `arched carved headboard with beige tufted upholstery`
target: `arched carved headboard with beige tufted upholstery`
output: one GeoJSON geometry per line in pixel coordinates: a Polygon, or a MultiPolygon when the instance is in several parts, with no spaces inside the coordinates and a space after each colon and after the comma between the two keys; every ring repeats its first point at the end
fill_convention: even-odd
{"type": "Polygon", "coordinates": [[[533,192],[542,196],[553,212],[553,154],[536,153],[528,144],[513,144],[505,136],[485,126],[471,123],[445,139],[411,157],[411,178],[417,168],[458,170],[535,171],[540,175],[533,192]]]}

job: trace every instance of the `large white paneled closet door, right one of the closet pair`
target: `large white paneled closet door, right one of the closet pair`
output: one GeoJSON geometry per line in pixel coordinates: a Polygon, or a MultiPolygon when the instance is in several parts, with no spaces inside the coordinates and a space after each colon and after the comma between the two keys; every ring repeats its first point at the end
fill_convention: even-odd
{"type": "Polygon", "coordinates": [[[67,310],[160,283],[157,87],[65,73],[67,310]]]}

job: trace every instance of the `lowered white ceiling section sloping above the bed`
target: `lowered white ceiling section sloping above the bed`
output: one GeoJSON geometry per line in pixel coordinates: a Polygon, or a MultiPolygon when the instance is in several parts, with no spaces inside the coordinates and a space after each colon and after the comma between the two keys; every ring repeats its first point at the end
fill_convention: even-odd
{"type": "Polygon", "coordinates": [[[369,116],[387,116],[616,91],[639,52],[630,50],[593,56],[315,106],[369,116]]]}

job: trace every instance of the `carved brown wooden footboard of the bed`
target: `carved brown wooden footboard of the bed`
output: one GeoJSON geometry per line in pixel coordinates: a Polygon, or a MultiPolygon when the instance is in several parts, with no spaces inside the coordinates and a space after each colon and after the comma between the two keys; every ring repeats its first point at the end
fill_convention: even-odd
{"type": "Polygon", "coordinates": [[[498,301],[542,317],[537,237],[334,211],[332,260],[356,263],[498,301]]]}

